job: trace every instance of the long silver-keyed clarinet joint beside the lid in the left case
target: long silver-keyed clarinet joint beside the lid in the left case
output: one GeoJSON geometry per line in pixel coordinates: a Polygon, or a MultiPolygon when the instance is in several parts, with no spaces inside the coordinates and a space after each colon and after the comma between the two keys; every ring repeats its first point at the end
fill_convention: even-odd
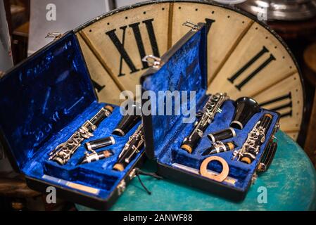
{"type": "Polygon", "coordinates": [[[109,117],[113,112],[113,107],[110,105],[106,105],[105,107],[101,108],[99,113],[96,113],[91,120],[84,122],[82,127],[75,131],[72,136],[65,142],[61,143],[57,146],[54,150],[49,153],[49,160],[58,162],[60,165],[66,165],[67,162],[70,160],[72,155],[75,151],[81,146],[81,143],[85,139],[89,139],[94,134],[92,134],[101,124],[101,122],[109,117]]]}

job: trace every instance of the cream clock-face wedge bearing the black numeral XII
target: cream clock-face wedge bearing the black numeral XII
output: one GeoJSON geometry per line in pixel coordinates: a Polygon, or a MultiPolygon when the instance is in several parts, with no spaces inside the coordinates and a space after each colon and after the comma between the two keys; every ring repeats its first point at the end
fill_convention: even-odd
{"type": "Polygon", "coordinates": [[[168,50],[169,6],[160,3],[131,8],[80,31],[120,91],[136,94],[135,86],[148,68],[141,59],[150,54],[160,57],[168,50]]]}

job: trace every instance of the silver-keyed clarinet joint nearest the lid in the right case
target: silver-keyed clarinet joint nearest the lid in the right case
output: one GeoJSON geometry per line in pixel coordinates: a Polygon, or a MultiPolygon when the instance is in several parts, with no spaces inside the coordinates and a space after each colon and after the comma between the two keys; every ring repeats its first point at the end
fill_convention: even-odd
{"type": "Polygon", "coordinates": [[[222,111],[220,110],[220,107],[228,99],[229,96],[227,96],[226,93],[217,93],[210,96],[201,113],[198,113],[198,117],[200,118],[194,124],[194,130],[182,142],[181,148],[183,150],[186,150],[190,154],[193,152],[194,148],[196,148],[198,142],[201,140],[204,131],[206,131],[208,125],[213,122],[216,113],[222,111]]]}

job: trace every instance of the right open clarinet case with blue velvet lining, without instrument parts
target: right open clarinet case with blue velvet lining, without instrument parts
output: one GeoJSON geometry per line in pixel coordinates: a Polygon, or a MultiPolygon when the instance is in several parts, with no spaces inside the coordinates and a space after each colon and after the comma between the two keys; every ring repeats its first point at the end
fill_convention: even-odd
{"type": "MultiPolygon", "coordinates": [[[[194,129],[194,123],[184,123],[186,117],[184,108],[190,109],[189,94],[183,96],[181,91],[196,91],[196,109],[201,110],[208,99],[207,89],[207,38],[206,25],[198,24],[190,30],[175,46],[165,55],[158,59],[156,66],[150,68],[141,77],[144,108],[150,109],[151,115],[143,115],[145,129],[146,155],[157,162],[158,174],[172,181],[192,186],[194,188],[220,195],[233,201],[244,200],[258,171],[266,170],[272,162],[277,143],[274,140],[274,133],[279,129],[279,114],[260,108],[260,112],[253,115],[244,129],[237,130],[236,136],[226,141],[233,141],[241,148],[247,139],[248,133],[253,129],[260,117],[265,113],[273,115],[272,124],[267,131],[266,139],[260,147],[260,153],[250,165],[244,162],[232,160],[233,151],[215,154],[226,160],[229,165],[229,175],[223,182],[208,179],[201,176],[199,169],[203,160],[208,156],[202,156],[203,150],[210,147],[211,142],[207,134],[220,131],[229,127],[234,116],[234,101],[225,101],[222,105],[222,113],[217,113],[215,119],[204,132],[201,141],[194,152],[189,154],[180,146],[186,136],[194,129]],[[172,96],[171,115],[159,115],[159,110],[170,110],[165,104],[165,98],[156,99],[161,91],[180,91],[179,95],[172,96]],[[151,93],[151,94],[148,94],[151,93]],[[153,96],[152,96],[153,95],[153,96]],[[175,102],[182,98],[181,108],[175,106],[175,102]],[[155,99],[153,101],[153,99],[155,99]],[[185,100],[185,101],[184,101],[185,100]],[[179,167],[183,165],[184,167],[179,167]],[[189,168],[189,169],[188,169],[189,168]]],[[[194,113],[196,110],[194,110],[194,113]]],[[[194,117],[195,120],[195,117],[194,117]]],[[[222,172],[222,165],[218,162],[211,162],[207,169],[212,172],[222,172]]],[[[270,171],[273,172],[273,171],[270,171]]]]}

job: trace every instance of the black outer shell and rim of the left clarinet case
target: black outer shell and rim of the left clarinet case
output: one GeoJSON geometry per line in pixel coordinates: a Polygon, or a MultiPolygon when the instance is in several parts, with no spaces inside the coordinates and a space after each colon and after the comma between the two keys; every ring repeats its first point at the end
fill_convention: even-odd
{"type": "MultiPolygon", "coordinates": [[[[67,33],[63,34],[63,37],[65,37],[71,33],[73,33],[73,32],[72,31],[67,32],[67,33]]],[[[39,56],[42,51],[53,46],[54,44],[56,44],[57,41],[63,41],[63,37],[61,37],[61,39],[56,39],[55,41],[52,41],[50,44],[44,46],[42,49],[40,49],[39,51],[34,53],[32,56],[30,56],[30,58],[23,60],[23,62],[19,63],[14,68],[9,70],[8,73],[11,72],[12,70],[17,70],[21,65],[27,64],[31,58],[35,58],[35,57],[39,56]]],[[[80,53],[82,54],[81,49],[80,49],[80,53]]],[[[82,55],[82,57],[83,57],[83,55],[82,55]]],[[[87,65],[84,65],[84,66],[87,67],[87,65]]],[[[89,75],[89,77],[90,77],[90,75],[89,75]]],[[[94,95],[96,96],[95,90],[94,90],[94,95]]],[[[89,119],[89,118],[87,118],[87,119],[89,119]]],[[[15,172],[22,173],[20,171],[20,168],[18,167],[18,163],[16,162],[13,153],[11,153],[11,151],[9,150],[10,144],[8,143],[8,141],[6,141],[6,138],[5,138],[4,134],[2,134],[1,129],[0,129],[0,141],[1,141],[1,143],[3,143],[5,153],[8,156],[8,159],[11,162],[11,165],[12,165],[13,169],[15,170],[15,172]]],[[[74,191],[74,190],[71,190],[70,188],[63,188],[62,186],[58,186],[56,184],[52,184],[52,183],[47,182],[47,181],[42,181],[40,179],[34,179],[32,177],[29,177],[29,176],[25,176],[25,180],[26,180],[27,186],[30,187],[31,189],[33,189],[34,191],[39,191],[39,192],[45,194],[46,188],[49,186],[52,186],[52,187],[56,188],[56,193],[57,193],[58,198],[64,198],[65,200],[69,200],[73,203],[78,203],[81,205],[85,205],[87,207],[93,207],[97,210],[108,210],[108,209],[110,209],[111,206],[114,205],[115,201],[120,197],[120,195],[122,195],[122,193],[125,191],[125,188],[129,184],[129,182],[132,181],[132,179],[134,179],[135,167],[141,167],[141,165],[144,164],[145,158],[146,158],[146,155],[144,152],[141,153],[141,155],[139,155],[139,158],[137,160],[135,160],[134,165],[131,167],[131,169],[129,169],[129,171],[127,171],[127,173],[125,174],[122,181],[120,181],[120,184],[118,184],[118,186],[115,188],[115,190],[112,193],[110,193],[109,197],[106,200],[101,199],[101,198],[94,198],[94,197],[91,197],[91,195],[86,195],[80,191],[74,191]]]]}

